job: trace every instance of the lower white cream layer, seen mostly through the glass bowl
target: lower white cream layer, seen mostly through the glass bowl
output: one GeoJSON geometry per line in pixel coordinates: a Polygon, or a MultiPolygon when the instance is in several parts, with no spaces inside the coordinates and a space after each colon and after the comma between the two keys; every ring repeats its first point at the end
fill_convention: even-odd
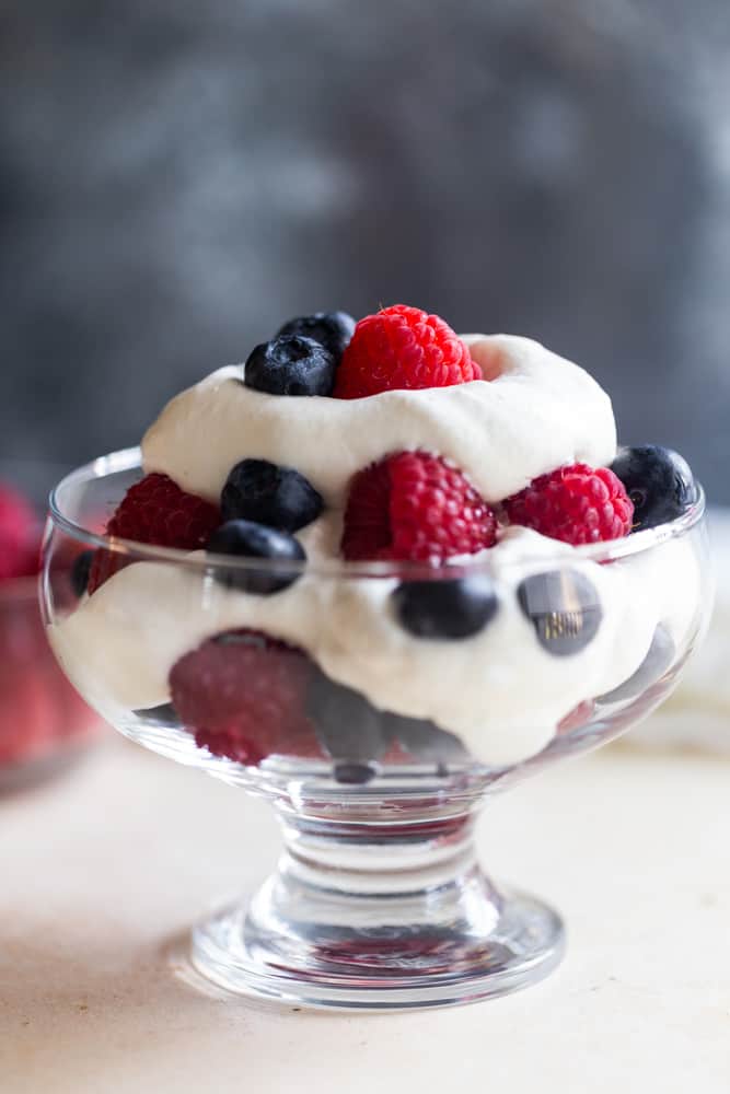
{"type": "Polygon", "coordinates": [[[583,699],[629,677],[659,621],[682,641],[696,603],[696,566],[680,542],[599,566],[515,529],[489,555],[499,610],[466,640],[419,640],[404,631],[391,607],[393,580],[308,573],[282,592],[252,596],[200,571],[151,562],[109,579],[51,628],[50,639],[79,689],[113,718],[115,708],[167,701],[170,670],[206,638],[236,627],[264,630],[302,647],[376,707],[432,719],[485,763],[511,764],[538,752],[583,699]],[[525,554],[529,563],[521,561],[525,554]],[[593,641],[567,657],[542,648],[515,596],[526,573],[559,566],[590,578],[603,610],[593,641]]]}

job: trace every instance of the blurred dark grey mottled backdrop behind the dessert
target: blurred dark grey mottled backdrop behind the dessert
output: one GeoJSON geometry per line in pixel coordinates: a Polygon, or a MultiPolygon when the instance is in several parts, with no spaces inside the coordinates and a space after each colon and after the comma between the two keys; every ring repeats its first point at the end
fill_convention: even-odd
{"type": "Polygon", "coordinates": [[[291,315],[540,338],[730,502],[727,0],[0,0],[0,458],[291,315]]]}

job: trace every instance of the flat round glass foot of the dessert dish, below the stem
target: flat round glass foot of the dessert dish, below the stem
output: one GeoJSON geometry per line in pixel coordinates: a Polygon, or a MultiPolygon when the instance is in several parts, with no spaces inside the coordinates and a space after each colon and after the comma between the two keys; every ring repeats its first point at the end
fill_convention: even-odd
{"type": "Polygon", "coordinates": [[[480,944],[468,940],[459,955],[415,934],[340,939],[339,955],[309,946],[296,961],[259,938],[245,910],[235,909],[196,928],[192,958],[228,991],[299,1006],[378,1011],[454,1006],[518,991],[547,976],[564,948],[556,912],[513,896],[494,931],[480,944]]]}

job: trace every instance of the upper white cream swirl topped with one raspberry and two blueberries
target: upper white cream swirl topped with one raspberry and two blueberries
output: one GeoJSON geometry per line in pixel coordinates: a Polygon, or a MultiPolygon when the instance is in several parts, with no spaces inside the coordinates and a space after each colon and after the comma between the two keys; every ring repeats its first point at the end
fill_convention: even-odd
{"type": "Polygon", "coordinates": [[[452,459],[486,501],[503,501],[563,464],[610,464],[611,399],[577,364],[513,335],[467,335],[489,382],[383,392],[364,399],[285,398],[219,369],[174,398],[142,441],[146,472],[218,501],[245,457],[305,475],[344,507],[352,475],[391,452],[424,449],[452,459]]]}

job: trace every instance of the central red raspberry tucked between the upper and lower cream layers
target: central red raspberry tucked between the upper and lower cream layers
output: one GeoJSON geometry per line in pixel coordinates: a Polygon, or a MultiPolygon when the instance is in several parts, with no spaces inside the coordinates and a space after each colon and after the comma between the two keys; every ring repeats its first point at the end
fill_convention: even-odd
{"type": "Polygon", "coordinates": [[[472,484],[440,456],[401,452],[352,479],[346,559],[436,561],[493,547],[497,520],[472,484]]]}

